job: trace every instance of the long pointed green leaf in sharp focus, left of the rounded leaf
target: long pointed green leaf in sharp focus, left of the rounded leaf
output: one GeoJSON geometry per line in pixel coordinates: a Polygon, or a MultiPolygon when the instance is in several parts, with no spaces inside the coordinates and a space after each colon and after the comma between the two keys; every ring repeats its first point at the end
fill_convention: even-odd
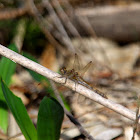
{"type": "Polygon", "coordinates": [[[15,96],[1,80],[2,91],[18,126],[20,127],[26,140],[37,140],[36,129],[29,118],[26,108],[21,99],[15,96]]]}

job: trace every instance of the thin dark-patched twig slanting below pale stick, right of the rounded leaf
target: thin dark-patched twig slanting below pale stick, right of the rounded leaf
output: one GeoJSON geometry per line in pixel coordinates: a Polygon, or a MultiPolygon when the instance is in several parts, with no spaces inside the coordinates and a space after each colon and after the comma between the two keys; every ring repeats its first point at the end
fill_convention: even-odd
{"type": "Polygon", "coordinates": [[[86,138],[88,138],[89,140],[94,140],[94,138],[90,134],[88,134],[88,132],[82,127],[82,125],[79,123],[79,121],[76,118],[74,118],[73,115],[70,112],[68,112],[66,110],[66,108],[64,106],[64,103],[63,103],[63,101],[62,101],[62,99],[61,99],[61,97],[59,95],[59,92],[58,92],[58,90],[56,88],[55,83],[52,80],[50,80],[50,83],[51,83],[51,86],[52,86],[52,88],[54,90],[55,96],[57,97],[59,103],[62,105],[62,107],[63,107],[67,117],[70,119],[70,121],[75,124],[75,126],[79,129],[81,134],[83,134],[86,138]]]}

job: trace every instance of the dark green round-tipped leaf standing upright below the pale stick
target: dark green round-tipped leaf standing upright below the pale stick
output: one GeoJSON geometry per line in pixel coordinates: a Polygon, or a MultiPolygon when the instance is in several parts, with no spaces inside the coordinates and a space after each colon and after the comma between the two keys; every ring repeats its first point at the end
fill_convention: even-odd
{"type": "Polygon", "coordinates": [[[38,140],[59,140],[63,118],[64,110],[58,101],[44,97],[38,113],[38,140]]]}

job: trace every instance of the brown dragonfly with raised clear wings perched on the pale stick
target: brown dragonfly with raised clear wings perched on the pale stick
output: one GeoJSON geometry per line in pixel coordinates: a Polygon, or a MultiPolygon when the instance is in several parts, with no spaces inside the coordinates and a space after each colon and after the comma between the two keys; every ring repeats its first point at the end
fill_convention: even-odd
{"type": "Polygon", "coordinates": [[[75,91],[76,91],[76,83],[78,83],[80,85],[87,87],[88,89],[93,90],[94,92],[96,92],[100,96],[107,99],[107,96],[104,93],[102,93],[98,89],[93,88],[83,79],[85,72],[89,69],[91,64],[92,64],[92,61],[90,61],[83,69],[81,69],[78,55],[75,54],[73,69],[67,70],[66,67],[62,67],[60,69],[60,73],[62,74],[63,77],[66,78],[64,84],[67,82],[67,79],[69,78],[75,82],[75,91]]]}

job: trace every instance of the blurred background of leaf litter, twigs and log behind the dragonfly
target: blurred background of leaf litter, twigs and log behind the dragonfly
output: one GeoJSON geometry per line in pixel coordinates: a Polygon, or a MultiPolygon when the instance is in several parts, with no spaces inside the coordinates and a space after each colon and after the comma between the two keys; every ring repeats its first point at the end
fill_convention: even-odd
{"type": "MultiPolygon", "coordinates": [[[[136,111],[140,94],[139,0],[0,0],[0,44],[16,44],[52,71],[79,70],[90,61],[84,79],[109,100],[136,111]],[[77,65],[77,64],[76,64],[77,65]]],[[[57,84],[65,107],[96,139],[129,140],[133,122],[57,84]]],[[[35,80],[17,65],[10,89],[22,98],[36,124],[44,96],[54,96],[51,84],[35,80]]],[[[19,131],[11,119],[9,136],[19,131]]],[[[137,138],[140,139],[138,129],[137,138]]],[[[16,139],[23,139],[17,137],[16,139]]],[[[86,139],[65,117],[62,140],[86,139]]]]}

